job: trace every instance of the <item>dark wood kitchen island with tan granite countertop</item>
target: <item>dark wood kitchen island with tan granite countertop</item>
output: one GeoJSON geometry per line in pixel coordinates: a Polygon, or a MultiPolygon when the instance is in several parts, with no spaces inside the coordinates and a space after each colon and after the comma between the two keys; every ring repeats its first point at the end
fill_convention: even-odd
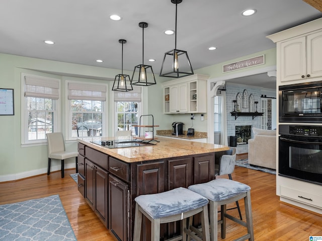
{"type": "MultiPolygon", "coordinates": [[[[93,142],[114,138],[78,139],[78,190],[118,240],[132,240],[136,196],[188,187],[215,178],[215,152],[221,145],[158,138],[155,145],[110,149],[93,142]]],[[[115,140],[114,140],[115,141],[115,140]]],[[[143,223],[150,240],[150,223],[143,223]]],[[[180,232],[179,223],[164,224],[162,239],[180,232]]]]}

